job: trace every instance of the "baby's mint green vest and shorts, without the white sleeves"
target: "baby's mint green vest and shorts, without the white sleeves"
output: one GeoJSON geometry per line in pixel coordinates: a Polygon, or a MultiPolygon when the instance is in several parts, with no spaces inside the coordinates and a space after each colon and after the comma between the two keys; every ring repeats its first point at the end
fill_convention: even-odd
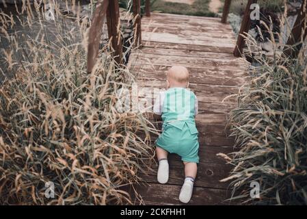
{"type": "Polygon", "coordinates": [[[196,96],[190,90],[170,88],[165,91],[161,105],[163,132],[156,144],[169,153],[178,154],[184,162],[198,163],[195,103],[196,96]]]}

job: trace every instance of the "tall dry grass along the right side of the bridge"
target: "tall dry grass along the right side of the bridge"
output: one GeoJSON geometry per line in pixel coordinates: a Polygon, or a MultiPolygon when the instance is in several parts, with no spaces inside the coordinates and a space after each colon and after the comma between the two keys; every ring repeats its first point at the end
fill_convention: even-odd
{"type": "MultiPolygon", "coordinates": [[[[273,57],[254,56],[252,79],[230,115],[237,152],[229,155],[232,172],[222,181],[230,181],[232,201],[242,204],[307,205],[306,44],[289,58],[270,27],[273,57]],[[253,181],[260,184],[260,198],[250,196],[253,181]]],[[[249,49],[258,47],[251,36],[246,42],[249,49]]]]}

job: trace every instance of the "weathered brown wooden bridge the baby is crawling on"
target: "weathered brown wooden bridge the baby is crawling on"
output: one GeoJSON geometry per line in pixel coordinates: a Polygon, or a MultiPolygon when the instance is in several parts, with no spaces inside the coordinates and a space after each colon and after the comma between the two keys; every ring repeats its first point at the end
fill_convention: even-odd
{"type": "MultiPolygon", "coordinates": [[[[228,184],[219,180],[228,176],[230,166],[217,157],[217,153],[230,153],[233,139],[228,138],[227,116],[236,107],[233,98],[247,79],[248,64],[239,57],[243,48],[243,37],[237,40],[226,17],[230,0],[225,1],[222,22],[220,18],[207,18],[175,14],[150,14],[149,1],[146,1],[146,16],[139,16],[139,0],[133,1],[135,14],[135,49],[129,58],[128,66],[138,75],[139,85],[163,88],[165,71],[173,65],[183,65],[190,72],[190,88],[198,96],[199,112],[196,117],[200,138],[200,164],[198,176],[189,205],[222,204],[229,197],[228,184]],[[236,42],[237,41],[237,42],[236,42]],[[224,100],[224,101],[223,101],[224,100]]],[[[249,0],[240,34],[250,27],[249,0]]],[[[98,4],[90,33],[88,70],[92,69],[92,55],[98,53],[97,32],[102,28],[104,14],[107,14],[109,38],[112,38],[114,55],[121,62],[120,35],[117,1],[103,1],[98,4]]],[[[294,29],[294,28],[293,28],[294,29]]],[[[297,28],[294,31],[299,31],[297,28]]],[[[295,40],[293,40],[295,42],[295,40]]],[[[293,42],[292,42],[293,43],[293,42]]],[[[184,179],[184,169],[180,158],[170,155],[170,179],[167,184],[157,182],[157,172],[149,172],[143,179],[146,184],[135,185],[145,204],[179,205],[178,195],[184,179]]],[[[157,170],[157,166],[152,167],[157,170]]],[[[135,204],[142,203],[135,198],[135,204]]]]}

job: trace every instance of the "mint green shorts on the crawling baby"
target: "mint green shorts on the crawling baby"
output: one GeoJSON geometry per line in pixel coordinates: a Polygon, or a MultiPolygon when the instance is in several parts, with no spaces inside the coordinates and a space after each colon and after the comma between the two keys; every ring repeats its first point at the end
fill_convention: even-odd
{"type": "Polygon", "coordinates": [[[181,156],[183,162],[199,162],[198,133],[191,133],[187,124],[183,126],[183,129],[178,129],[170,124],[163,125],[163,132],[156,144],[169,153],[181,156]]]}

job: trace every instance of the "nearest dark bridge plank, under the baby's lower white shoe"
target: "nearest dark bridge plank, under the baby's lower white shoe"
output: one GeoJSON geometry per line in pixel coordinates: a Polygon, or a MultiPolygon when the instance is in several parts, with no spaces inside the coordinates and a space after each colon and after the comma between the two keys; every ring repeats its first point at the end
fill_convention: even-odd
{"type": "MultiPolygon", "coordinates": [[[[181,185],[162,185],[149,183],[135,185],[137,192],[142,195],[145,205],[183,205],[178,199],[181,185]]],[[[187,205],[222,205],[229,197],[229,192],[222,189],[194,187],[193,196],[187,205]]],[[[139,201],[135,199],[135,205],[139,201]]]]}

